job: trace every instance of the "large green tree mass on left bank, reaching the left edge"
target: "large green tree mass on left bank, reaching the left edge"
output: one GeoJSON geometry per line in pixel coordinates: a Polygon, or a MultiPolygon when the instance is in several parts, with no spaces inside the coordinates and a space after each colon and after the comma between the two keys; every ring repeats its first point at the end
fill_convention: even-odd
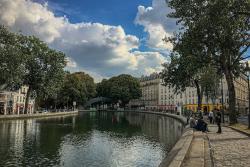
{"type": "Polygon", "coordinates": [[[0,27],[0,84],[29,86],[25,99],[27,113],[32,94],[52,96],[63,81],[65,55],[50,49],[34,36],[24,36],[0,27]]]}

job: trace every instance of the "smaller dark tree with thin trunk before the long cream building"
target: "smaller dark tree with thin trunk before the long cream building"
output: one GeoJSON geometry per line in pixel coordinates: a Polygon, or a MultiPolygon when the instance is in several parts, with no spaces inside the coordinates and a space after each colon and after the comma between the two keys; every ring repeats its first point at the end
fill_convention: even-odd
{"type": "Polygon", "coordinates": [[[181,93],[187,87],[195,87],[198,109],[202,107],[204,86],[208,86],[205,84],[210,84],[204,78],[207,69],[206,67],[201,68],[204,66],[203,63],[199,62],[195,56],[179,56],[173,53],[170,63],[163,64],[164,69],[161,72],[164,84],[173,87],[175,93],[181,93]]]}

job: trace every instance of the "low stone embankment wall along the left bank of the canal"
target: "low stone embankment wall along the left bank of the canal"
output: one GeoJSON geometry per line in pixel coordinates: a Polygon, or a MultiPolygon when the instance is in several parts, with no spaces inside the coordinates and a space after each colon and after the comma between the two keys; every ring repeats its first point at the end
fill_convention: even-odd
{"type": "Polygon", "coordinates": [[[0,120],[27,119],[27,118],[44,118],[44,117],[56,117],[56,116],[75,115],[75,114],[78,114],[78,111],[36,113],[36,114],[20,114],[20,115],[0,115],[0,120]]]}

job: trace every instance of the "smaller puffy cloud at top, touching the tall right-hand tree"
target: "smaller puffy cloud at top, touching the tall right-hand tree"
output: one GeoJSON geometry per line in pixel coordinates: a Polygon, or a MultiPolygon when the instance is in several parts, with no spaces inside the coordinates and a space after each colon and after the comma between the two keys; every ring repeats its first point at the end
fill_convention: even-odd
{"type": "Polygon", "coordinates": [[[148,33],[147,44],[156,50],[172,49],[171,43],[162,39],[171,36],[176,29],[175,20],[166,17],[171,12],[165,0],[153,0],[151,7],[138,6],[135,23],[148,33]]]}

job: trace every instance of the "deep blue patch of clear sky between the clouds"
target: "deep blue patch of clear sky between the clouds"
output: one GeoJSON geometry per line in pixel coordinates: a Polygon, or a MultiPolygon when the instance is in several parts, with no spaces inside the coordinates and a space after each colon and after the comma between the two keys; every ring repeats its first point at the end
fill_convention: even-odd
{"type": "MultiPolygon", "coordinates": [[[[134,23],[137,7],[151,6],[152,0],[36,0],[54,11],[56,16],[67,16],[71,23],[98,22],[107,25],[121,25],[126,33],[143,39],[147,33],[143,26],[134,23]]],[[[142,41],[143,43],[143,41],[142,41]]],[[[140,45],[140,50],[150,50],[140,45]]]]}

